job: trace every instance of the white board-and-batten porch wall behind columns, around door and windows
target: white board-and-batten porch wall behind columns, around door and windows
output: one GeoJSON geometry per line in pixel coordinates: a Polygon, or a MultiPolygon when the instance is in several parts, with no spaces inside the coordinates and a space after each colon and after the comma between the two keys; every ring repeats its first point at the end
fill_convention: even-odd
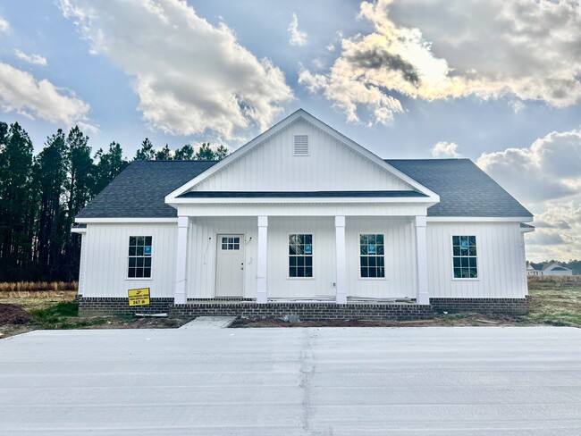
{"type": "MultiPolygon", "coordinates": [[[[245,243],[244,297],[257,295],[257,218],[196,218],[189,231],[188,298],[214,298],[217,235],[240,234],[245,243]]],[[[410,297],[417,293],[415,233],[409,217],[348,217],[348,295],[410,297]],[[359,276],[359,234],[381,233],[385,279],[359,276]]],[[[336,276],[334,217],[269,217],[268,297],[334,298],[336,276]],[[289,234],[313,235],[313,277],[289,277],[289,234]]]]}

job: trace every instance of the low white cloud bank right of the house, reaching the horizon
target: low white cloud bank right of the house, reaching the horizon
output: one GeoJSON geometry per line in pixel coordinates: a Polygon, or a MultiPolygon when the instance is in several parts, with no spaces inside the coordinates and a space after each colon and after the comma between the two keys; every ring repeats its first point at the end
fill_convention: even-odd
{"type": "Polygon", "coordinates": [[[535,213],[536,231],[526,237],[529,259],[581,258],[581,130],[484,153],[477,164],[535,213]]]}

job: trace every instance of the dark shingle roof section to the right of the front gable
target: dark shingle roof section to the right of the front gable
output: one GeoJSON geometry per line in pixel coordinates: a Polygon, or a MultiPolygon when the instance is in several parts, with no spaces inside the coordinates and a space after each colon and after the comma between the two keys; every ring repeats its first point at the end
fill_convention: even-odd
{"type": "Polygon", "coordinates": [[[470,159],[387,159],[440,195],[428,216],[530,217],[533,214],[470,159]]]}

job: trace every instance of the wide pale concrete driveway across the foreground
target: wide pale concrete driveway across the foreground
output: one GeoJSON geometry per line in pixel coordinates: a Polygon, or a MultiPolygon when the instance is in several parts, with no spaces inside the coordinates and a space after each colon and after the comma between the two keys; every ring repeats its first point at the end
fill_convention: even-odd
{"type": "Polygon", "coordinates": [[[35,331],[2,435],[579,435],[581,330],[35,331]]]}

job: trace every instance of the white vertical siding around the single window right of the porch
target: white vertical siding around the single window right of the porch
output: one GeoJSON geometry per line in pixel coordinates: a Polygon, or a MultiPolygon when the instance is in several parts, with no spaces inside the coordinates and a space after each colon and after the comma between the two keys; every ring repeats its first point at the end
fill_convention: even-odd
{"type": "Polygon", "coordinates": [[[430,297],[524,298],[526,262],[518,222],[428,222],[430,297]],[[454,279],[452,236],[476,236],[478,278],[454,279]]]}

